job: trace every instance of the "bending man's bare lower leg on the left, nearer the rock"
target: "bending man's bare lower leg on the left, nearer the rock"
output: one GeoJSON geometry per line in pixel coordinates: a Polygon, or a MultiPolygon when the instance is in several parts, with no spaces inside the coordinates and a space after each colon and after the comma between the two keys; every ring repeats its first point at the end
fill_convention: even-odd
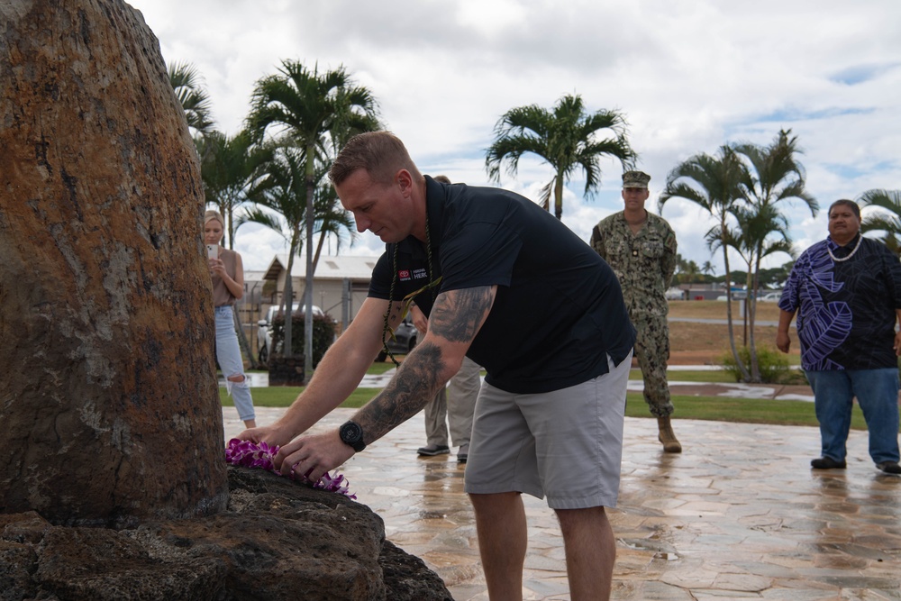
{"type": "Polygon", "coordinates": [[[521,601],[528,544],[523,497],[520,493],[471,494],[469,500],[476,513],[478,552],[488,597],[491,601],[521,601]]]}

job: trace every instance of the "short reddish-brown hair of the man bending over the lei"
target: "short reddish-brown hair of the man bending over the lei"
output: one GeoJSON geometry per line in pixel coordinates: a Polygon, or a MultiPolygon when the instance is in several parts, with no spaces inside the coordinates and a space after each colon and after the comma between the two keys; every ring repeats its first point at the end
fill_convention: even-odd
{"type": "Polygon", "coordinates": [[[357,169],[366,169],[369,178],[382,184],[390,182],[399,169],[406,169],[415,179],[423,178],[404,142],[391,132],[358,133],[350,138],[329,169],[329,179],[340,185],[357,169]]]}

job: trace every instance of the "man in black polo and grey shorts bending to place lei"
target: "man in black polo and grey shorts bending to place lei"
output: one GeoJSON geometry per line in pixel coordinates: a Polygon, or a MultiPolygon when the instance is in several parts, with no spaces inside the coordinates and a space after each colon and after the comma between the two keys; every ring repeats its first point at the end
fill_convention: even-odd
{"type": "Polygon", "coordinates": [[[487,372],[465,487],[489,596],[521,595],[526,492],[558,515],[571,598],[607,598],[615,542],[604,508],[618,494],[635,341],[613,271],[523,196],[422,176],[388,132],[351,139],[329,175],[386,252],[305,392],[241,438],[284,445],[282,472],[318,479],[417,414],[468,356],[487,372]],[[292,441],[350,395],[413,298],[429,329],[384,391],[338,431],[292,441]]]}

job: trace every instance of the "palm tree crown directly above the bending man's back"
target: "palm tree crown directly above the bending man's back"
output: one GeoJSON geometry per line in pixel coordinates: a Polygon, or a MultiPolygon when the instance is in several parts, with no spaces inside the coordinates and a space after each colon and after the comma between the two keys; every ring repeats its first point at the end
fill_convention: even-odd
{"type": "Polygon", "coordinates": [[[500,169],[507,161],[507,172],[516,175],[519,159],[531,152],[544,159],[554,170],[553,178],[542,188],[542,207],[550,210],[551,191],[554,214],[563,215],[563,187],[576,168],[585,173],[585,195],[596,194],[601,180],[601,157],[619,159],[623,168],[633,165],[635,153],[626,139],[626,123],[616,111],[600,110],[587,114],[581,96],[563,96],[548,111],[538,105],[510,109],[495,126],[495,141],[487,150],[485,168],[488,177],[500,181],[500,169]],[[597,132],[609,130],[602,140],[597,132]]]}

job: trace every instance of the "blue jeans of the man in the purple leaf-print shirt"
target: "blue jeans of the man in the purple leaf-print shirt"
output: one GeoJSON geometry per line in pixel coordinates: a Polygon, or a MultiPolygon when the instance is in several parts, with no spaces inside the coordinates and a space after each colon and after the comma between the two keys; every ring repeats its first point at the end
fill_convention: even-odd
{"type": "Polygon", "coordinates": [[[857,396],[869,429],[869,456],[876,463],[898,460],[898,370],[805,371],[814,389],[823,457],[843,460],[851,429],[851,399],[857,396]]]}

